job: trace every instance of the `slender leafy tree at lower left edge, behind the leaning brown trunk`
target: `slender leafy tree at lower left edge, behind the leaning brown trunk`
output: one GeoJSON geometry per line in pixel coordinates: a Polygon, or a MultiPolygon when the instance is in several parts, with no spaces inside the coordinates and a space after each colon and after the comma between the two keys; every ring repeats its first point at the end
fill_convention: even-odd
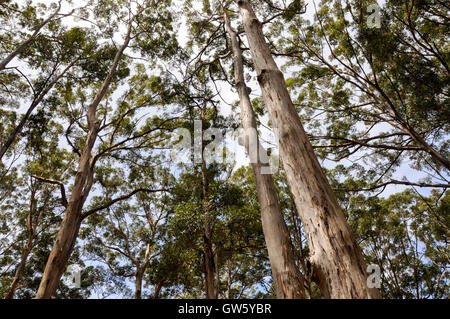
{"type": "MultiPolygon", "coordinates": [[[[58,145],[62,127],[47,115],[38,112],[30,118],[24,132],[24,161],[14,167],[18,175],[11,180],[10,172],[9,178],[2,179],[2,188],[14,188],[1,201],[5,235],[0,253],[1,290],[6,299],[35,293],[65,200],[60,183],[52,178],[68,176],[73,169],[73,155],[58,145]]],[[[60,289],[64,286],[61,283],[60,289]]]]}

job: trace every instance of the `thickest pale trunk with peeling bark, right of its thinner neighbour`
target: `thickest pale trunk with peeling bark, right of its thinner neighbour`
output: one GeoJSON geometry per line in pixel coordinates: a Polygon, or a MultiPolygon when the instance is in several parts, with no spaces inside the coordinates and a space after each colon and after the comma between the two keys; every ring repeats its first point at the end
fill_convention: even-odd
{"type": "Polygon", "coordinates": [[[236,1],[263,99],[277,130],[280,155],[310,248],[311,276],[326,298],[380,298],[367,285],[366,264],[314,154],[283,74],[249,1],[236,1]]]}

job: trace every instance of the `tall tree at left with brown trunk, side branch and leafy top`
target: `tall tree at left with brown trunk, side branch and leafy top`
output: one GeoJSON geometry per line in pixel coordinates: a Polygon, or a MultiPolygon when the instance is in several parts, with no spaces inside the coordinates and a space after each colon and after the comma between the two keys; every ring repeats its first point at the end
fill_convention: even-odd
{"type": "MultiPolygon", "coordinates": [[[[142,5],[135,5],[135,3],[132,1],[124,4],[125,8],[123,10],[121,10],[121,8],[116,4],[112,3],[108,3],[107,6],[103,6],[102,2],[100,2],[96,4],[97,7],[95,7],[95,10],[98,11],[98,14],[103,14],[104,17],[106,17],[106,20],[111,19],[111,14],[114,13],[119,15],[118,19],[127,19],[126,33],[122,44],[115,52],[114,59],[109,66],[109,70],[107,71],[106,76],[100,84],[100,88],[87,107],[87,135],[84,145],[79,151],[80,158],[78,162],[77,172],[74,178],[74,184],[72,186],[72,192],[67,203],[64,219],[56,237],[54,247],[46,264],[42,276],[42,281],[36,294],[36,298],[50,298],[56,290],[59,279],[65,269],[71,251],[75,245],[81,222],[83,218],[89,215],[89,213],[83,215],[82,209],[94,183],[94,169],[97,160],[102,155],[107,154],[108,151],[111,151],[111,149],[114,149],[115,147],[119,148],[119,146],[122,146],[122,144],[128,141],[134,141],[136,138],[139,138],[143,135],[146,135],[146,133],[153,131],[147,130],[141,135],[137,134],[137,136],[125,139],[124,141],[114,144],[106,150],[101,150],[94,155],[94,145],[98,138],[99,131],[102,128],[105,128],[105,126],[101,125],[101,120],[99,120],[98,118],[99,114],[97,109],[100,102],[107,94],[111,83],[114,81],[116,71],[124,55],[124,51],[129,47],[132,38],[134,39],[134,41],[139,43],[139,41],[144,41],[143,35],[148,35],[148,41],[151,42],[153,36],[157,37],[158,34],[160,34],[159,32],[161,31],[161,25],[166,25],[167,21],[170,20],[167,18],[167,11],[164,12],[164,7],[159,7],[158,11],[160,12],[154,13],[154,16],[151,15],[152,12],[150,11],[154,9],[154,6],[156,5],[153,1],[144,2],[142,5]],[[146,17],[145,19],[143,19],[144,16],[146,17]],[[154,31],[156,34],[151,34],[151,31],[154,31]]],[[[159,6],[161,5],[162,4],[159,4],[159,6]]],[[[164,33],[165,31],[166,30],[163,30],[162,33],[164,33]]],[[[156,41],[159,41],[159,39],[156,39],[156,41]]],[[[157,44],[158,43],[155,43],[153,48],[147,48],[147,52],[151,52],[151,50],[157,50],[157,44]]],[[[145,49],[146,48],[143,48],[143,50],[145,49]]],[[[125,113],[125,115],[126,114],[127,113],[125,113]]],[[[123,116],[120,119],[123,119],[123,116]]],[[[108,125],[106,125],[106,127],[107,126],[108,125]]],[[[114,137],[114,133],[112,134],[112,137],[114,137]]],[[[148,190],[136,189],[134,193],[139,191],[148,190]]]]}

